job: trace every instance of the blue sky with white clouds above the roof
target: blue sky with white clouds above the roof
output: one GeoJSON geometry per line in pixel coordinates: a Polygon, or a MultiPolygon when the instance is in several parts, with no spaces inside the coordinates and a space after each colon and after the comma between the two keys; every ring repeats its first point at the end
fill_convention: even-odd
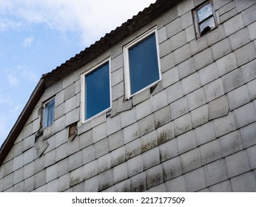
{"type": "Polygon", "coordinates": [[[0,0],[0,146],[41,75],[155,0],[0,0]]]}

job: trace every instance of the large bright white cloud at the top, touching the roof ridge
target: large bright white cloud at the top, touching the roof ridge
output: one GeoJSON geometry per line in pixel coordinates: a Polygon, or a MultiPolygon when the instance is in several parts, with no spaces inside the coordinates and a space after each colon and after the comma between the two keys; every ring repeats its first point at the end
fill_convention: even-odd
{"type": "Polygon", "coordinates": [[[153,2],[155,0],[0,0],[5,8],[0,14],[8,13],[30,24],[47,24],[64,32],[77,32],[82,43],[88,44],[153,2]]]}

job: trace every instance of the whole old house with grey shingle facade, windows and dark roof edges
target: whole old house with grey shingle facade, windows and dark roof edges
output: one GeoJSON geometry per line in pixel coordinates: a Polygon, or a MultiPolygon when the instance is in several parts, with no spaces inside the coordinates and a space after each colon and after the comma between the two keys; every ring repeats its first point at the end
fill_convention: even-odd
{"type": "Polygon", "coordinates": [[[158,0],[43,75],[0,191],[256,191],[255,11],[158,0]]]}

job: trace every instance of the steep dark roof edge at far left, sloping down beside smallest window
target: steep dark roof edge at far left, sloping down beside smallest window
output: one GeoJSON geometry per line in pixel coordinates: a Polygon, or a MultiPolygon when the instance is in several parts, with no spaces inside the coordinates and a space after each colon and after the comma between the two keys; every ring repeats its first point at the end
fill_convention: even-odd
{"type": "Polygon", "coordinates": [[[27,123],[27,120],[30,118],[31,112],[35,108],[38,100],[41,98],[41,95],[44,93],[44,79],[40,79],[33,93],[30,95],[29,100],[27,101],[26,106],[21,112],[21,115],[18,116],[18,120],[13,126],[13,129],[10,130],[9,135],[7,136],[4,143],[1,145],[0,149],[0,166],[4,162],[5,157],[7,157],[10,149],[13,147],[16,138],[20,134],[24,125],[27,123]]]}

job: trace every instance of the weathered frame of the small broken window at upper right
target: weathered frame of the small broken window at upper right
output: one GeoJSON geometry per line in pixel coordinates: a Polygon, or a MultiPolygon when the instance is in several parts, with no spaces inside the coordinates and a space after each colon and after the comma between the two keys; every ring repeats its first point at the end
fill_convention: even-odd
{"type": "MultiPolygon", "coordinates": [[[[201,38],[203,35],[206,35],[207,33],[209,33],[209,32],[207,32],[207,33],[201,35],[200,28],[199,28],[200,23],[198,22],[198,13],[197,13],[198,10],[200,10],[206,4],[211,4],[212,16],[213,16],[213,19],[215,21],[215,27],[212,28],[211,30],[209,30],[209,32],[211,32],[212,30],[215,30],[218,27],[218,21],[217,21],[217,16],[216,16],[216,13],[215,13],[215,7],[213,5],[213,2],[212,2],[212,0],[207,0],[203,4],[201,4],[200,6],[196,7],[194,10],[192,10],[194,26],[195,26],[195,35],[196,35],[197,39],[201,38]]],[[[203,20],[203,21],[205,21],[205,20],[203,20]]]]}

